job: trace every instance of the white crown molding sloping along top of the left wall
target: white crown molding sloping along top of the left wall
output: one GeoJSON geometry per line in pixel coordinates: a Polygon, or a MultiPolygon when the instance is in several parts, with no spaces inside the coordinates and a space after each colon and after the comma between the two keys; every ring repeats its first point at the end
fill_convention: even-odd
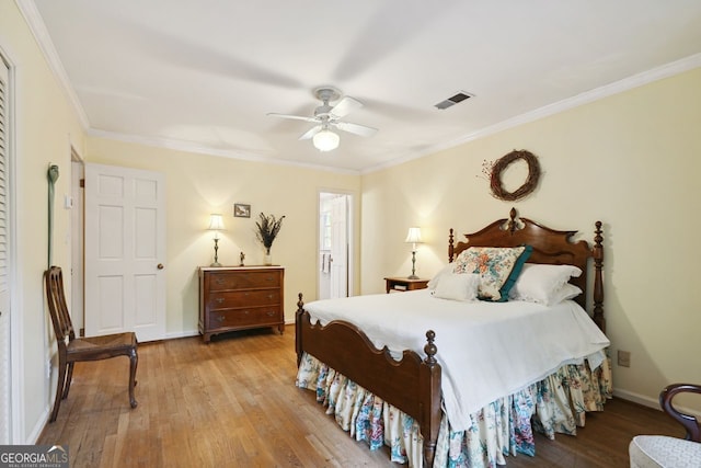
{"type": "Polygon", "coordinates": [[[54,47],[54,42],[51,41],[51,37],[46,30],[44,20],[42,19],[42,15],[37,10],[34,0],[14,0],[14,2],[24,16],[24,21],[26,21],[26,24],[30,26],[30,31],[32,31],[34,38],[39,46],[39,49],[44,54],[49,68],[54,72],[54,76],[59,83],[59,87],[62,89],[66,98],[76,110],[76,114],[78,115],[80,124],[82,125],[84,130],[88,130],[90,128],[88,114],[85,114],[85,110],[81,105],[78,95],[73,91],[73,87],[71,87],[70,84],[70,80],[68,79],[68,75],[66,73],[66,69],[64,68],[64,64],[61,64],[61,60],[58,57],[56,47],[54,47]]]}

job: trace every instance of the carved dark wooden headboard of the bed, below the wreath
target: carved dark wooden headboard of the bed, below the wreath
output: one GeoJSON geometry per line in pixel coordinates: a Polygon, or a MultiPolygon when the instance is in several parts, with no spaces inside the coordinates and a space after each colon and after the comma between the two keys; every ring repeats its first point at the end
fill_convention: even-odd
{"type": "Polygon", "coordinates": [[[450,229],[448,237],[448,261],[452,262],[456,256],[469,247],[518,247],[528,244],[533,248],[528,263],[544,264],[568,264],[578,266],[582,275],[572,278],[571,283],[578,286],[584,294],[575,300],[586,308],[587,300],[587,272],[589,270],[589,259],[594,263],[594,312],[595,323],[606,332],[606,319],[604,318],[604,247],[601,242],[601,221],[596,221],[594,247],[585,240],[572,241],[572,236],[577,231],[560,231],[539,225],[527,218],[516,215],[516,208],[512,208],[508,218],[499,219],[487,227],[467,233],[466,241],[458,241],[453,244],[453,231],[450,229]]]}

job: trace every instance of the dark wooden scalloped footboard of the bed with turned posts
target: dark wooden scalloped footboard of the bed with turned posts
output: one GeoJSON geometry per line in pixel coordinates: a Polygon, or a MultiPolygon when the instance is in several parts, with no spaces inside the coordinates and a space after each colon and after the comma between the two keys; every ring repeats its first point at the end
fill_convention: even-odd
{"type": "Polygon", "coordinates": [[[433,466],[440,425],[440,365],[436,361],[435,333],[426,332],[422,359],[404,351],[395,361],[389,350],[378,350],[357,327],[332,321],[312,324],[299,294],[296,312],[297,366],[307,352],[347,378],[414,418],[424,437],[425,466],[433,466]]]}

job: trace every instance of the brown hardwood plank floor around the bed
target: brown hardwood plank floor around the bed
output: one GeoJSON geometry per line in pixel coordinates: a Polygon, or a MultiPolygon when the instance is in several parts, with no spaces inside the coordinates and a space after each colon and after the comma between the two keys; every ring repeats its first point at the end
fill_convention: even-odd
{"type": "MultiPolygon", "coordinates": [[[[78,363],[70,395],[38,444],[68,444],[71,467],[395,466],[344,433],[295,387],[295,329],[170,340],[139,346],[136,397],[128,361],[78,363]]],[[[628,467],[636,434],[681,436],[659,411],[614,399],[576,437],[538,435],[518,467],[628,467]]]]}

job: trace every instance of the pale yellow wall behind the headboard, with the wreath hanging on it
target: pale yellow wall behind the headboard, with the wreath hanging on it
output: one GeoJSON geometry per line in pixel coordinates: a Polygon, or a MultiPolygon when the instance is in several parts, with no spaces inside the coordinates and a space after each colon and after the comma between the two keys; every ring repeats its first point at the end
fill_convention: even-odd
{"type": "MultiPolygon", "coordinates": [[[[402,241],[412,225],[426,232],[417,267],[430,277],[446,261],[450,227],[474,231],[506,217],[512,206],[553,228],[578,229],[587,240],[601,220],[611,354],[632,355],[630,368],[614,363],[614,387],[620,396],[656,406],[665,385],[701,381],[700,128],[696,69],[366,174],[363,293],[381,292],[383,275],[411,271],[402,241]],[[497,201],[481,178],[482,162],[515,148],[536,153],[543,174],[528,198],[497,201]]],[[[516,180],[522,182],[520,170],[516,180]]]]}

